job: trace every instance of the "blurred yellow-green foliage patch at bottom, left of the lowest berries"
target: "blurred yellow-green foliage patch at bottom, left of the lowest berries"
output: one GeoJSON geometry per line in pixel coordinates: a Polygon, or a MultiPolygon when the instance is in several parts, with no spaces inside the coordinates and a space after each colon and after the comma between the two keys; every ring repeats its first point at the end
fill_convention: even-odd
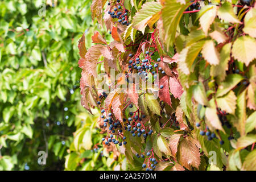
{"type": "Polygon", "coordinates": [[[77,118],[80,119],[76,121],[77,130],[66,157],[65,169],[82,171],[126,170],[126,159],[120,152],[114,150],[113,146],[102,147],[101,139],[104,134],[99,129],[100,126],[97,122],[100,114],[97,109],[94,109],[93,113],[93,116],[89,113],[77,115],[77,118]],[[85,121],[84,118],[86,118],[85,121]]]}

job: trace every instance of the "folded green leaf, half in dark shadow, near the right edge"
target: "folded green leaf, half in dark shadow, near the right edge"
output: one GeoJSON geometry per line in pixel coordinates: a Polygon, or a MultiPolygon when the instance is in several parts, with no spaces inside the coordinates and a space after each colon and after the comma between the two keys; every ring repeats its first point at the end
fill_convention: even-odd
{"type": "Polygon", "coordinates": [[[230,74],[226,77],[226,80],[218,86],[216,96],[221,97],[233,89],[240,81],[243,80],[243,77],[238,74],[230,74]]]}

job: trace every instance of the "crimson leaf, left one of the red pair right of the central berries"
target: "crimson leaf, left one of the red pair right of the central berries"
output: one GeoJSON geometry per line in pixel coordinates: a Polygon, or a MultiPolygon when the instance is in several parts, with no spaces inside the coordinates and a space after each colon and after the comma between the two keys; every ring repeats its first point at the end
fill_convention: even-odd
{"type": "Polygon", "coordinates": [[[159,90],[159,98],[161,101],[172,105],[170,92],[169,92],[169,77],[166,75],[159,80],[159,85],[163,85],[163,89],[159,90]]]}

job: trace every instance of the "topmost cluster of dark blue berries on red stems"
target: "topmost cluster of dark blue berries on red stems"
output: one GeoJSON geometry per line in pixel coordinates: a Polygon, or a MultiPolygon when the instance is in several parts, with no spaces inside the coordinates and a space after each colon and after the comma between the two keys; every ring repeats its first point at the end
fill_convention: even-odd
{"type": "Polygon", "coordinates": [[[108,11],[108,14],[111,16],[113,19],[118,19],[116,20],[119,23],[122,23],[123,25],[129,26],[130,22],[128,22],[128,13],[129,11],[125,9],[123,6],[123,3],[120,2],[120,0],[117,0],[117,2],[109,2],[108,3],[110,7],[110,11],[108,11]],[[112,11],[113,10],[113,11],[112,11]]]}

